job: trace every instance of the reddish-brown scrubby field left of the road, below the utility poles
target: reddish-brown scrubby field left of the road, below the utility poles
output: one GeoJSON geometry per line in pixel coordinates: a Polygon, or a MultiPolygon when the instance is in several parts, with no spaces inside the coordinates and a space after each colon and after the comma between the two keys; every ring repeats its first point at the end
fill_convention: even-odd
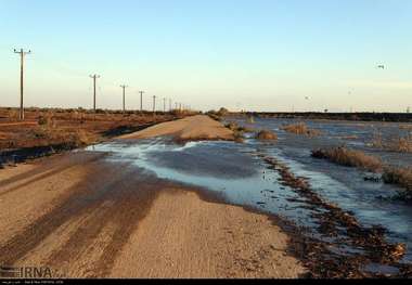
{"type": "Polygon", "coordinates": [[[14,121],[14,109],[0,108],[0,168],[26,159],[82,147],[114,137],[175,120],[186,114],[27,109],[25,121],[14,121]]]}

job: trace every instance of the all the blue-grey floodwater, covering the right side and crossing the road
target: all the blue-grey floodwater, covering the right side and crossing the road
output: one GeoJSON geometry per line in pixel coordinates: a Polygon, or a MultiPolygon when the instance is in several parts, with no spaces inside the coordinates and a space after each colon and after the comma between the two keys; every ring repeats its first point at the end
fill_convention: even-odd
{"type": "MultiPolygon", "coordinates": [[[[390,138],[399,132],[405,134],[408,129],[400,130],[396,124],[306,121],[310,128],[322,131],[320,137],[306,138],[281,130],[283,125],[294,120],[257,119],[255,124],[247,124],[242,118],[231,120],[254,129],[273,130],[279,141],[263,143],[249,135],[245,143],[190,142],[182,146],[167,138],[158,138],[127,143],[114,141],[86,151],[110,152],[107,159],[114,163],[129,161],[160,179],[218,193],[228,203],[284,217],[313,229],[313,235],[319,235],[313,209],[306,207],[305,199],[293,189],[282,185],[279,173],[268,169],[258,154],[274,157],[288,166],[295,176],[307,178],[311,189],[324,199],[352,212],[363,225],[379,224],[387,229],[390,242],[408,245],[403,261],[412,261],[412,207],[382,198],[395,195],[398,189],[379,182],[365,182],[368,173],[310,156],[311,150],[345,144],[381,156],[387,164],[411,166],[411,154],[383,152],[368,145],[376,130],[390,138]]],[[[357,248],[345,250],[355,252],[357,248]]],[[[391,270],[381,264],[368,267],[386,272],[391,270]]]]}

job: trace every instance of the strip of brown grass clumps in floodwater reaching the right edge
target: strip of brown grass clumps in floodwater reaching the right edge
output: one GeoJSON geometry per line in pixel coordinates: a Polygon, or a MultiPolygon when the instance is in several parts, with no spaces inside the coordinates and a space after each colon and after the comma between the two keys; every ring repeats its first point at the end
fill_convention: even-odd
{"type": "Polygon", "coordinates": [[[346,147],[312,151],[312,157],[327,159],[342,166],[357,167],[366,171],[382,173],[382,180],[385,183],[402,187],[397,198],[412,202],[412,168],[387,166],[377,157],[346,147]]]}

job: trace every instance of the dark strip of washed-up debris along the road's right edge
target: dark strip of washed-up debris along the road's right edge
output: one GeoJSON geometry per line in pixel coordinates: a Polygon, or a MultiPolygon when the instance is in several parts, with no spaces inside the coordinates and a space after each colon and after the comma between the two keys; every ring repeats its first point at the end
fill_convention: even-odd
{"type": "Polygon", "coordinates": [[[308,207],[312,209],[312,217],[318,220],[318,232],[327,237],[327,241],[307,233],[305,229],[294,238],[296,251],[310,269],[310,277],[314,278],[359,278],[384,277],[379,273],[365,272],[368,263],[379,263],[396,267],[399,273],[391,277],[409,276],[410,268],[403,268],[400,262],[405,254],[404,244],[394,244],[387,241],[386,230],[379,225],[364,226],[353,213],[345,211],[335,204],[323,199],[310,183],[301,177],[295,176],[291,169],[274,157],[258,154],[269,169],[280,174],[280,181],[306,198],[308,207]],[[335,241],[335,242],[333,242],[335,241]],[[342,251],[343,248],[361,248],[359,254],[342,251]]]}

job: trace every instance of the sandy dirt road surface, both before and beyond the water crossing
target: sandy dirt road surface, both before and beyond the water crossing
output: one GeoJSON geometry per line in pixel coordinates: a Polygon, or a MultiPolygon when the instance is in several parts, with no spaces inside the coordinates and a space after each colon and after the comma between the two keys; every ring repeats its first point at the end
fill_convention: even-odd
{"type": "MultiPolygon", "coordinates": [[[[224,133],[198,116],[176,124],[157,128],[214,137],[216,126],[224,133]],[[190,131],[196,122],[205,129],[190,131]]],[[[149,133],[156,135],[152,128],[134,137],[149,133]]],[[[305,273],[267,216],[105,157],[74,152],[0,171],[0,264],[50,267],[64,277],[305,273]]]]}

